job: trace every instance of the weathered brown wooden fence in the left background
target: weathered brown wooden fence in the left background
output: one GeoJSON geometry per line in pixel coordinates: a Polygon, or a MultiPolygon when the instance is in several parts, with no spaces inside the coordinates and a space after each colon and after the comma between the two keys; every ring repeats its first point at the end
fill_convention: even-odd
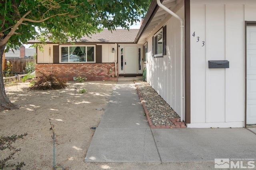
{"type": "Polygon", "coordinates": [[[11,72],[15,73],[21,73],[23,70],[25,70],[26,63],[28,62],[34,62],[34,58],[30,59],[24,59],[24,58],[18,58],[18,59],[5,59],[4,69],[7,69],[7,61],[9,61],[12,64],[11,72]]]}

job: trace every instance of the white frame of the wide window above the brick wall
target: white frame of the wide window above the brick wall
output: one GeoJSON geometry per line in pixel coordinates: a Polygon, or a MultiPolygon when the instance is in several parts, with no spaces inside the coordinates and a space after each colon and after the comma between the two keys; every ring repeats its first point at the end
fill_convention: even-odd
{"type": "Polygon", "coordinates": [[[96,45],[60,45],[59,46],[59,54],[60,54],[60,63],[96,63],[96,45]],[[68,47],[68,62],[62,62],[61,61],[61,55],[62,55],[62,51],[61,51],[61,48],[62,47],[68,47]],[[86,47],[86,61],[84,61],[84,62],[69,62],[69,56],[70,56],[70,54],[69,54],[69,47],[86,47]],[[87,47],[94,47],[94,61],[88,61],[88,59],[87,59],[87,47]]]}

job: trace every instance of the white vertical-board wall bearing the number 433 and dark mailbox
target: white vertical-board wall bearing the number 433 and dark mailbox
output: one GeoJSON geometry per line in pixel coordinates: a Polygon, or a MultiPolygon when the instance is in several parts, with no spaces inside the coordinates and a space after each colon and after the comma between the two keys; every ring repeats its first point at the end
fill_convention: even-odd
{"type": "Polygon", "coordinates": [[[243,127],[244,21],[256,21],[256,1],[191,0],[190,20],[188,127],[243,127]],[[208,68],[209,60],[228,60],[230,68],[208,68]]]}

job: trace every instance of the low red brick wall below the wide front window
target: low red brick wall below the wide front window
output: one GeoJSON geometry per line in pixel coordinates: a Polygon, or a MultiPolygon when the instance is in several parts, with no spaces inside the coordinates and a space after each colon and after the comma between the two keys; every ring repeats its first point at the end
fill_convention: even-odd
{"type": "MultiPolygon", "coordinates": [[[[87,80],[114,80],[117,81],[118,77],[115,77],[115,63],[77,63],[77,64],[36,64],[36,76],[40,76],[40,73],[50,73],[52,68],[58,72],[60,77],[73,80],[73,77],[82,76],[87,80]],[[113,71],[109,72],[110,67],[113,71]]],[[[116,70],[118,75],[118,64],[116,64],[116,70]]]]}

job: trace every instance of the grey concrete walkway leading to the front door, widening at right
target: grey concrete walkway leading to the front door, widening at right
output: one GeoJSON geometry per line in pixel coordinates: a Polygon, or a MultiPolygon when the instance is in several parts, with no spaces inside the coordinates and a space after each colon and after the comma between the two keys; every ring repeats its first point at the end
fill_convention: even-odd
{"type": "Polygon", "coordinates": [[[150,129],[132,81],[118,82],[85,162],[256,160],[256,135],[244,128],[150,129]]]}

